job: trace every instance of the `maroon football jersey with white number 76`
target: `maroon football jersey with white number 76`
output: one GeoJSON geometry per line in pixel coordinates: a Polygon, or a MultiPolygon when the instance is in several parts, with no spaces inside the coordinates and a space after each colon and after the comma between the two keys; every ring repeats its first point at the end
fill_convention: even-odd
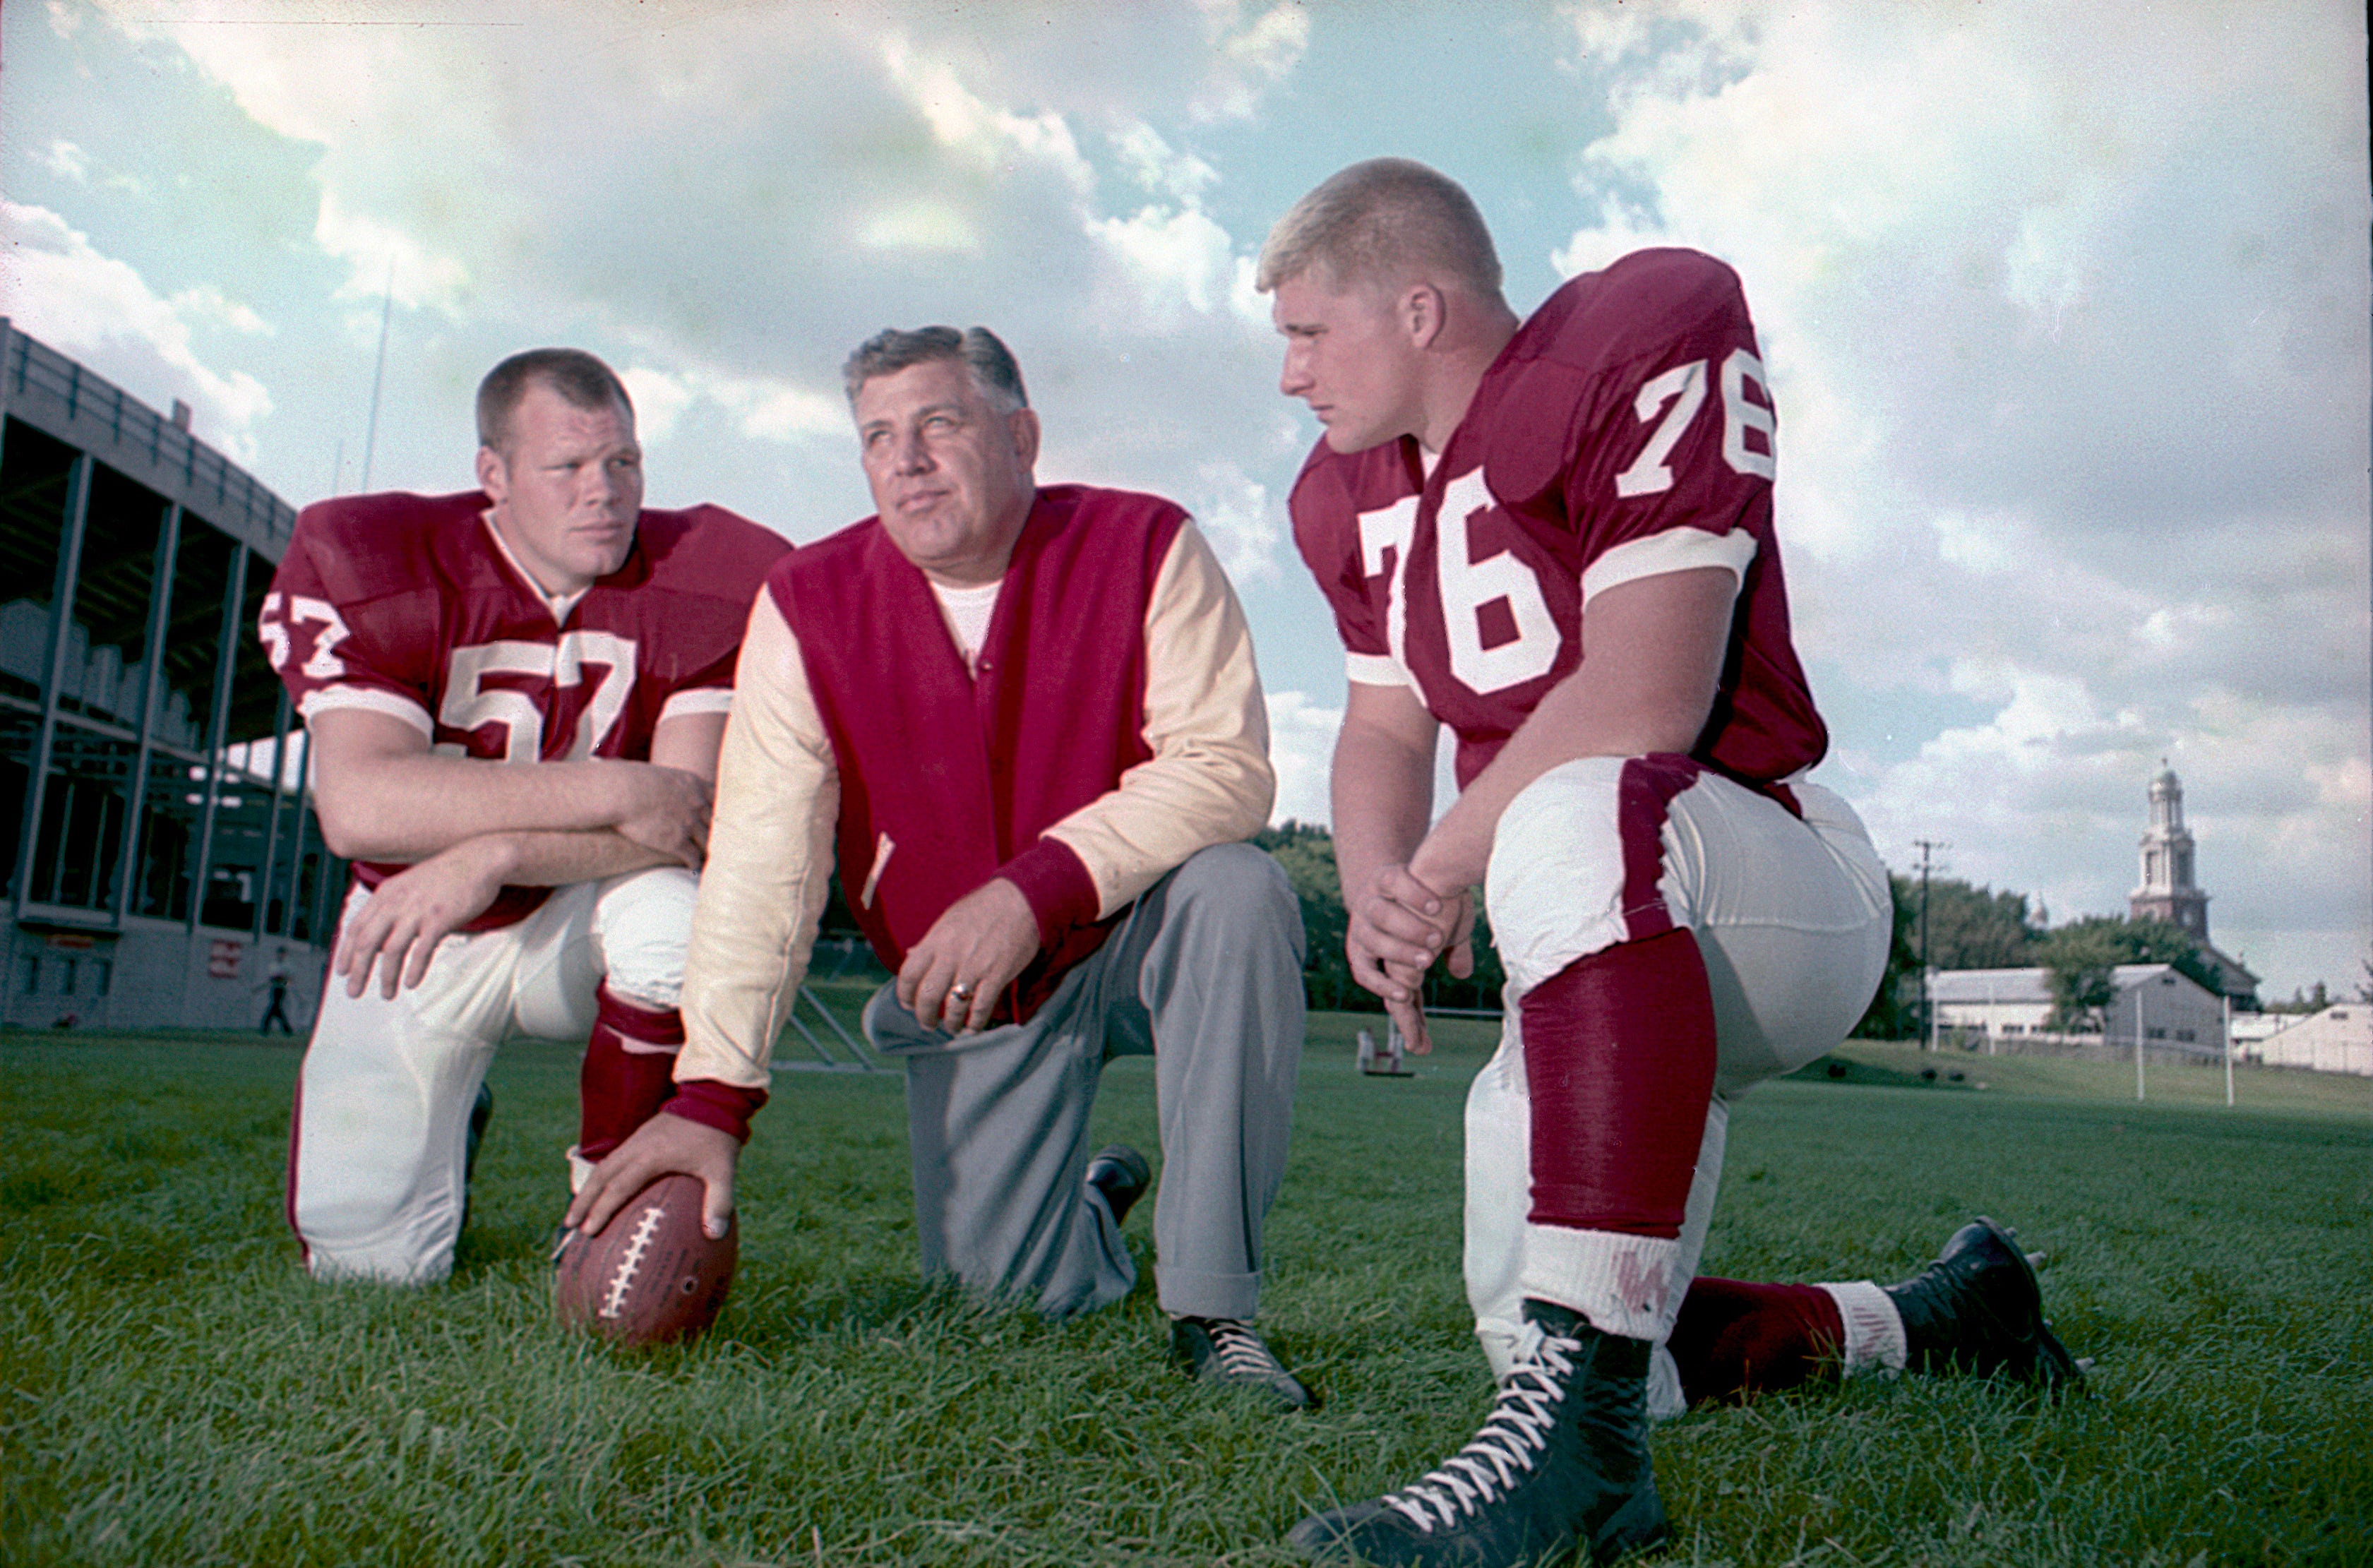
{"type": "Polygon", "coordinates": [[[1789,640],[1775,432],[1737,275],[1697,251],[1635,251],[1516,330],[1431,470],[1412,436],[1362,453],[1322,439],[1293,486],[1293,538],[1350,678],[1412,686],[1459,738],[1459,788],[1583,664],[1592,595],[1728,567],[1730,648],[1692,757],[1775,783],[1827,750],[1789,640]]]}

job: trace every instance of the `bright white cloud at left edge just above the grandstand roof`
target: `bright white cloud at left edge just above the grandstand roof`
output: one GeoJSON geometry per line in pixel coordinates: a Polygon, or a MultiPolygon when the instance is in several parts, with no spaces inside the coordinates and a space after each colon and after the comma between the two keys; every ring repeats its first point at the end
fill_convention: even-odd
{"type": "Polygon", "coordinates": [[[0,240],[7,247],[0,294],[9,299],[17,330],[88,363],[145,403],[161,408],[185,399],[199,436],[233,458],[254,455],[252,429],[273,399],[254,375],[225,375],[197,356],[190,315],[211,315],[211,306],[159,299],[140,273],[102,256],[90,235],[45,206],[0,199],[0,240]]]}

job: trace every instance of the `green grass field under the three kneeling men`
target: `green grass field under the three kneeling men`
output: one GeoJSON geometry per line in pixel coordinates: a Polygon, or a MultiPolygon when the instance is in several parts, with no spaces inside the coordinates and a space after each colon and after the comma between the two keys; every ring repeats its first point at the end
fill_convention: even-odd
{"type": "MultiPolygon", "coordinates": [[[[719,1328],[624,1355],[551,1324],[572,1051],[503,1051],[453,1281],[387,1290],[297,1269],[297,1051],[0,1034],[0,1563],[1291,1561],[1308,1509],[1488,1407],[1457,1234],[1490,1027],[1362,1079],[1357,1022],[1312,1022],[1270,1226],[1265,1328],[1327,1397],[1293,1419],[1172,1373],[1151,1286],[1075,1324],[925,1290],[888,1075],[778,1077],[719,1328]]],[[[2131,1067],[1846,1060],[1739,1103],[1706,1269],[1884,1281],[1991,1212],[2050,1250],[2093,1395],[1692,1414],[1654,1440],[1659,1561],[2373,1561],[2373,1084],[2242,1072],[2226,1110],[2221,1072],[2152,1067],[2136,1105],[2131,1067]]],[[[1115,1065],[1101,1132],[1151,1150],[1151,1098],[1115,1065]]]]}

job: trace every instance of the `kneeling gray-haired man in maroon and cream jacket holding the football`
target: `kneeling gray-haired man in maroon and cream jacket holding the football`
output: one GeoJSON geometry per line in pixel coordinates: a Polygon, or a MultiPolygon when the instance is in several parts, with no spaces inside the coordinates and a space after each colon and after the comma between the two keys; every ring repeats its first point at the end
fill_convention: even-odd
{"type": "Polygon", "coordinates": [[[1032,477],[1020,372],[973,327],[847,363],[878,515],[788,555],[750,614],[686,963],[669,1115],[586,1188],[660,1169],[731,1207],[835,854],[897,980],[925,1274],[1103,1307],[1141,1155],[1089,1155],[1103,1060],[1153,1053],[1160,1302],[1179,1364],[1298,1407],[1248,1321],[1300,1065],[1303,930],[1241,844],[1274,773],[1236,595],[1177,505],[1032,477]]]}

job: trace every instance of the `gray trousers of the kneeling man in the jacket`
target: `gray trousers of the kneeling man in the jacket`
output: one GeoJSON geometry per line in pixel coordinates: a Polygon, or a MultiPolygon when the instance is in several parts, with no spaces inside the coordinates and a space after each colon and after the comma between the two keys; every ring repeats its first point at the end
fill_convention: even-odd
{"type": "Polygon", "coordinates": [[[906,1063],[923,1274],[1065,1317],[1118,1302],[1137,1264],[1087,1186],[1089,1113],[1113,1056],[1153,1056],[1163,1132],[1153,1207],[1160,1305],[1253,1317],[1260,1229],[1286,1169],[1303,1060],[1303,918],[1251,844],[1156,882],[1030,1022],[925,1030],[895,987],[866,1037],[906,1063]]]}

